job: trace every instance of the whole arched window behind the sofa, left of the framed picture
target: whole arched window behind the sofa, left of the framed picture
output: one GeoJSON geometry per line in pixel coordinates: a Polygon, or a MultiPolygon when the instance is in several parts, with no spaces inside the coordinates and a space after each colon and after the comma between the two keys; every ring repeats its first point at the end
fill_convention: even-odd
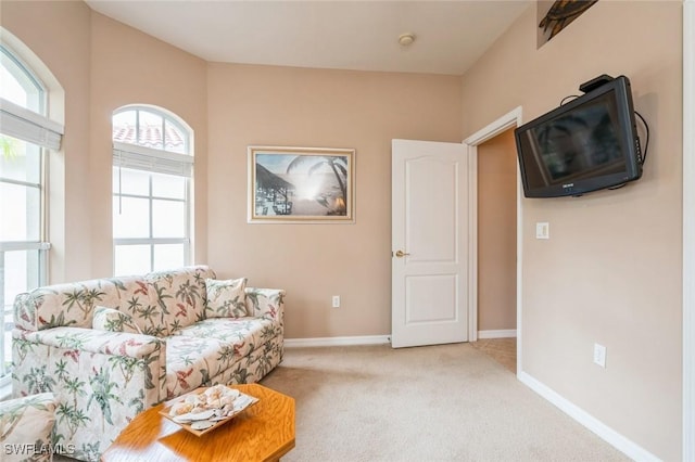
{"type": "Polygon", "coordinates": [[[192,130],[154,106],[113,113],[114,274],[191,261],[192,130]]]}

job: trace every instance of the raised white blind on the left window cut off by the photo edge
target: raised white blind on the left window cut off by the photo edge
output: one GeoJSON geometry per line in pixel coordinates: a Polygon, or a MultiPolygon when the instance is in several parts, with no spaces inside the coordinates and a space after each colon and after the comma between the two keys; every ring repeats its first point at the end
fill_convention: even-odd
{"type": "Polygon", "coordinates": [[[62,125],[0,98],[0,133],[59,151],[63,132],[62,125]]]}

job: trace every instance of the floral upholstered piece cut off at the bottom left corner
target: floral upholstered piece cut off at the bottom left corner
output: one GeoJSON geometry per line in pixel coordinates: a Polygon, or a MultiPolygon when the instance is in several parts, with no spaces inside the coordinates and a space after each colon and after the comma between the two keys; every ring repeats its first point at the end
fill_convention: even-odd
{"type": "Polygon", "coordinates": [[[51,433],[55,424],[55,405],[52,393],[0,402],[3,461],[52,460],[54,447],[51,433]]]}

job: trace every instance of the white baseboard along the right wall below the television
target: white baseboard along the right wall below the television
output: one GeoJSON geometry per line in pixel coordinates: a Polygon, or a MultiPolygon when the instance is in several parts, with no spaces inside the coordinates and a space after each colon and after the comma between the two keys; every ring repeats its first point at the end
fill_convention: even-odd
{"type": "Polygon", "coordinates": [[[541,395],[543,398],[551,401],[553,405],[558,407],[563,412],[568,414],[570,418],[574,419],[580,424],[584,425],[590,431],[594,432],[601,438],[603,438],[606,442],[614,446],[619,451],[623,452],[629,458],[641,461],[641,462],[660,462],[661,460],[642,448],[640,445],[634,441],[626,438],[623,435],[619,434],[615,429],[610,428],[608,425],[601,422],[598,419],[591,415],[589,412],[573,405],[563,396],[558,395],[548,386],[542,384],[538,380],[533,378],[526,372],[519,372],[517,374],[517,378],[533,392],[541,395]]]}

